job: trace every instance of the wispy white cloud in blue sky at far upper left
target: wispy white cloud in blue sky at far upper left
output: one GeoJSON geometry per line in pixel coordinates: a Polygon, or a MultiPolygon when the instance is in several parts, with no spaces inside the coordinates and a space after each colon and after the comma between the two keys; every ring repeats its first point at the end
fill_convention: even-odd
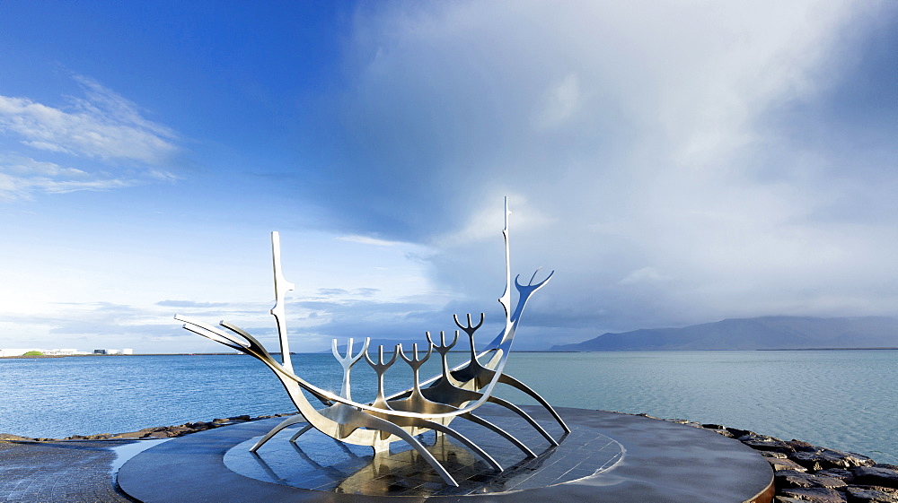
{"type": "Polygon", "coordinates": [[[0,157],[0,199],[176,178],[168,169],[179,152],[177,134],[146,119],[136,104],[100,83],[82,76],[75,80],[84,98],[70,97],[63,108],[0,96],[0,138],[20,145],[7,147],[0,157]],[[22,147],[31,152],[23,153],[22,147]]]}

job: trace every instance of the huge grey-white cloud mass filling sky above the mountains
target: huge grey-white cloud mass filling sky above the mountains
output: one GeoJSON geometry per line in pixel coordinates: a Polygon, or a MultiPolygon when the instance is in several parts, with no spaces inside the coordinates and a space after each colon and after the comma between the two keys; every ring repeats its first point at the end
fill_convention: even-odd
{"type": "Polygon", "coordinates": [[[398,181],[348,196],[404,203],[389,216],[441,247],[438,284],[501,284],[512,194],[513,273],[559,270],[534,308],[595,330],[896,312],[895,213],[840,221],[894,209],[882,187],[898,178],[876,165],[894,145],[783,134],[820,130],[814,108],[884,4],[392,5],[359,17],[341,106],[357,160],[398,181]],[[421,199],[439,218],[409,212],[421,199]],[[516,226],[529,214],[540,224],[516,226]]]}

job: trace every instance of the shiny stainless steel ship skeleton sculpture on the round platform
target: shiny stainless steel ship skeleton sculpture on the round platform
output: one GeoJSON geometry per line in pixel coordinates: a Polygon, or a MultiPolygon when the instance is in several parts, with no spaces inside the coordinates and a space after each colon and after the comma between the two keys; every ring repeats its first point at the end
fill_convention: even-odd
{"type": "Polygon", "coordinates": [[[281,273],[280,241],[277,232],[271,233],[276,296],[275,307],[271,309],[271,314],[275,317],[277,323],[281,362],[278,363],[258,340],[238,326],[222,321],[219,324],[225,329],[222,330],[222,328],[213,325],[207,325],[188,317],[176,315],[175,319],[184,322],[184,328],[187,330],[216,341],[216,343],[225,344],[225,346],[234,350],[249,354],[267,365],[284,385],[290,399],[295,403],[299,414],[287,418],[274,429],[271,429],[250,450],[254,452],[265,444],[269,438],[274,437],[279,431],[286,429],[288,426],[307,422],[307,425],[299,429],[293,438],[290,438],[291,442],[295,442],[300,435],[313,428],[318,429],[321,433],[331,438],[336,438],[348,444],[374,447],[375,455],[388,451],[392,442],[404,441],[417,450],[447,484],[458,486],[452,474],[447,472],[436,457],[427,451],[416,436],[431,429],[437,435],[444,434],[471,449],[473,453],[479,455],[487,464],[501,472],[502,466],[486,451],[471,441],[471,439],[449,427],[449,424],[454,419],[461,418],[496,432],[514,444],[515,447],[521,449],[528,457],[537,457],[533,450],[506,432],[506,430],[474,413],[480,405],[487,402],[497,403],[515,412],[530,423],[533,429],[539,431],[552,446],[557,446],[558,441],[552,438],[549,432],[543,429],[529,414],[515,404],[493,395],[493,390],[499,383],[513,386],[541,403],[555,418],[555,421],[558,421],[565,434],[570,432],[568,425],[561,420],[559,414],[552,409],[549,403],[529,386],[524,385],[524,383],[515,379],[515,377],[509,376],[504,371],[511,351],[511,345],[515,340],[515,330],[521,321],[521,315],[524,313],[527,299],[530,299],[533,293],[549,282],[552,273],[554,273],[550,273],[541,282],[534,283],[536,274],[539,273],[539,270],[537,270],[527,284],[518,282],[520,276],[515,277],[515,289],[518,292],[518,299],[515,308],[512,308],[508,215],[506,199],[505,228],[502,230],[502,235],[505,238],[506,289],[498,299],[505,309],[505,328],[489,343],[485,350],[478,352],[474,345],[474,333],[483,325],[483,314],[480,314],[480,320],[476,324],[471,322],[471,315],[467,315],[464,324],[457,316],[453,316],[455,325],[458,325],[459,329],[468,335],[471,348],[470,359],[453,368],[449,367],[446,355],[458,343],[458,330],[455,331],[452,342],[446,341],[444,332],[440,332],[438,338],[427,332],[427,351],[423,352],[423,354],[418,351],[417,343],[413,345],[412,351],[408,354],[403,350],[402,345],[398,344],[393,349],[389,360],[383,359],[383,346],[378,348],[376,357],[373,359],[368,351],[369,339],[367,338],[362,345],[361,351],[358,351],[357,354],[353,354],[353,340],[349,339],[346,346],[346,355],[340,355],[337,348],[337,340],[334,339],[331,349],[334,357],[343,367],[343,383],[339,395],[314,386],[302,377],[297,376],[294,373],[293,364],[290,360],[284,309],[286,292],[294,290],[295,285],[287,282],[283,273],[281,273]],[[431,357],[433,351],[436,351],[442,360],[442,372],[440,375],[421,381],[418,376],[418,369],[431,357]],[[368,365],[374,369],[374,373],[377,376],[377,395],[372,403],[353,401],[350,390],[350,370],[363,357],[368,365]],[[396,362],[397,357],[401,357],[402,360],[409,364],[414,375],[413,383],[408,390],[402,393],[385,396],[383,391],[383,374],[396,362]],[[482,361],[486,361],[486,363],[481,363],[482,361]],[[316,409],[306,398],[304,391],[321,401],[324,404],[324,408],[316,409]]]}

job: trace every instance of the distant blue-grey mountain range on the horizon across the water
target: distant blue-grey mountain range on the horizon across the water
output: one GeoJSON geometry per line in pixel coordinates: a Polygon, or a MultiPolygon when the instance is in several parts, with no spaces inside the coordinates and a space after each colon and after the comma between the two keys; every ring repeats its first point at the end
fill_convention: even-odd
{"type": "Polygon", "coordinates": [[[550,351],[701,351],[898,348],[895,317],[755,317],[602,334],[550,351]]]}

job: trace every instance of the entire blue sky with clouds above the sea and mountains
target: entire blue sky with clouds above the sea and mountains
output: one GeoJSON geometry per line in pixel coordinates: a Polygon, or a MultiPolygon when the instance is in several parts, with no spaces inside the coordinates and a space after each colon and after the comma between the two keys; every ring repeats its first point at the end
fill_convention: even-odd
{"type": "MultiPolygon", "coordinates": [[[[898,316],[898,4],[0,2],[0,347],[898,316]]],[[[480,334],[480,333],[479,333],[480,334]]]]}

